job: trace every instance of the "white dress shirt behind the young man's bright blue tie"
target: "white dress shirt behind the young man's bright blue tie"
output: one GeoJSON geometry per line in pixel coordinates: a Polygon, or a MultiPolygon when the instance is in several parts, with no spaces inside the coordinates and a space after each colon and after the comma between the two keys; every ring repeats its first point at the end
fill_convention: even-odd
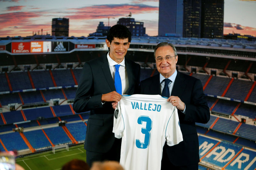
{"type": "MultiPolygon", "coordinates": [[[[118,63],[116,63],[112,58],[110,58],[109,52],[107,54],[107,58],[108,58],[108,65],[109,65],[109,69],[110,69],[112,78],[113,78],[113,80],[115,80],[115,72],[116,72],[115,65],[118,63]]],[[[121,63],[119,63],[119,65],[120,65],[119,75],[120,75],[121,82],[122,82],[122,94],[125,94],[129,88],[129,81],[128,81],[127,71],[125,69],[124,60],[121,63]]]]}

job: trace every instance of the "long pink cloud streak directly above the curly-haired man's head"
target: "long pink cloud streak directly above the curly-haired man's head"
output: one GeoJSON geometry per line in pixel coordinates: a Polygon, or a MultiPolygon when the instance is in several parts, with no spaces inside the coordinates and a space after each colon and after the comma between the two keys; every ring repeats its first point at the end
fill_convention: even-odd
{"type": "Polygon", "coordinates": [[[71,8],[69,9],[72,15],[65,16],[70,19],[100,19],[108,17],[125,17],[132,14],[146,13],[149,11],[158,11],[157,6],[149,6],[143,4],[106,4],[93,5],[89,7],[71,8]],[[113,12],[114,11],[114,12],[113,12]]]}

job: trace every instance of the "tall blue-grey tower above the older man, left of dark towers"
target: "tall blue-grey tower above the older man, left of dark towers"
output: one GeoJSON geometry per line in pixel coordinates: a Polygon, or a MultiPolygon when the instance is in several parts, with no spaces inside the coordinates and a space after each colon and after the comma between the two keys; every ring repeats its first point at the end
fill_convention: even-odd
{"type": "Polygon", "coordinates": [[[183,1],[159,0],[158,36],[182,37],[183,1]]]}

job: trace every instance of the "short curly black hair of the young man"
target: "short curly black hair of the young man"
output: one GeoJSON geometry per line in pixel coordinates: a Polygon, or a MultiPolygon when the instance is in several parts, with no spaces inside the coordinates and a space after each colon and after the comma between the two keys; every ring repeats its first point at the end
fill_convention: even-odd
{"type": "Polygon", "coordinates": [[[119,38],[119,39],[126,39],[128,38],[128,42],[131,42],[132,40],[132,34],[130,30],[123,25],[116,24],[112,26],[107,35],[107,40],[111,43],[112,40],[114,40],[114,37],[119,38]]]}

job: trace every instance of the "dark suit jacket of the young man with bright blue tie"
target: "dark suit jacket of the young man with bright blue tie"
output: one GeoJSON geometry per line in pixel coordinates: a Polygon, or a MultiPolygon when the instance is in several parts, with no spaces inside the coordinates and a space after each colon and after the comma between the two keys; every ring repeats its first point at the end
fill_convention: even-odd
{"type": "MultiPolygon", "coordinates": [[[[125,58],[129,88],[126,94],[139,92],[140,65],[125,58]]],[[[114,141],[114,109],[111,102],[101,103],[102,94],[116,91],[108,65],[107,55],[84,63],[76,91],[73,108],[77,113],[91,111],[87,122],[84,149],[91,152],[108,152],[114,141]]]]}

